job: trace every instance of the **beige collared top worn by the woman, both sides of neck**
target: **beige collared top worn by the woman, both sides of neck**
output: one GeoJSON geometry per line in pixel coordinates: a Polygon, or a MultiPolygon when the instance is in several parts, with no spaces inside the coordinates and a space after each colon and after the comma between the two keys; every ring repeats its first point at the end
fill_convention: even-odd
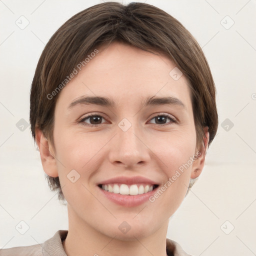
{"type": "MultiPolygon", "coordinates": [[[[62,241],[68,230],[58,230],[51,238],[40,244],[0,249],[0,256],[67,256],[62,241]]],[[[166,238],[168,256],[191,256],[185,253],[180,245],[166,238]]]]}

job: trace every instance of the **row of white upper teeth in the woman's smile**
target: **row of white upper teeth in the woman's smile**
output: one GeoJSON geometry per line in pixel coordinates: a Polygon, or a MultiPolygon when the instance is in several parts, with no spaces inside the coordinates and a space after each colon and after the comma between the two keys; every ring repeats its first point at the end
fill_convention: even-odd
{"type": "Polygon", "coordinates": [[[101,188],[104,189],[105,191],[113,192],[115,194],[136,195],[152,191],[153,185],[132,184],[128,186],[127,184],[102,184],[101,188]]]}

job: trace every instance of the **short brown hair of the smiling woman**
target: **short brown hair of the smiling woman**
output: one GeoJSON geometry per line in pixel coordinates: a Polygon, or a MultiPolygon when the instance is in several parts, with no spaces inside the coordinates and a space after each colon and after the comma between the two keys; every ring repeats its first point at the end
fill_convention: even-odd
{"type": "MultiPolygon", "coordinates": [[[[196,146],[203,140],[204,126],[209,127],[210,144],[218,125],[215,85],[200,46],[177,19],[153,5],[138,2],[93,5],[69,18],[51,36],[41,53],[31,84],[33,139],[38,127],[54,148],[54,109],[59,93],[51,99],[47,95],[95,47],[112,41],[162,53],[175,63],[190,83],[196,146]]],[[[48,175],[46,178],[51,190],[57,190],[58,198],[63,200],[59,178],[48,175]]]]}

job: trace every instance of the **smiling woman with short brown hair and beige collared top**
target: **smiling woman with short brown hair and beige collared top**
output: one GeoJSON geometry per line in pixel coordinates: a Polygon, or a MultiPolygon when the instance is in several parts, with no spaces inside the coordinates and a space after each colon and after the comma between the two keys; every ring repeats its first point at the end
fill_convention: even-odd
{"type": "Polygon", "coordinates": [[[179,21],[136,2],[75,14],[38,61],[30,124],[68,230],[1,255],[188,255],[168,221],[218,118],[207,61],[179,21]]]}

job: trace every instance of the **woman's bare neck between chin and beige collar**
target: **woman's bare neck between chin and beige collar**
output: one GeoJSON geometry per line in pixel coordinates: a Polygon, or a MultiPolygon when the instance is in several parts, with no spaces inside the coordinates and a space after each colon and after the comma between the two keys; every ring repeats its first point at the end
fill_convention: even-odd
{"type": "MultiPolygon", "coordinates": [[[[68,205],[68,204],[67,204],[68,205]]],[[[68,207],[68,206],[67,206],[68,207]]],[[[166,234],[168,220],[150,235],[136,233],[129,237],[108,236],[78,216],[69,214],[68,233],[63,241],[67,256],[166,256],[166,234]]]]}

